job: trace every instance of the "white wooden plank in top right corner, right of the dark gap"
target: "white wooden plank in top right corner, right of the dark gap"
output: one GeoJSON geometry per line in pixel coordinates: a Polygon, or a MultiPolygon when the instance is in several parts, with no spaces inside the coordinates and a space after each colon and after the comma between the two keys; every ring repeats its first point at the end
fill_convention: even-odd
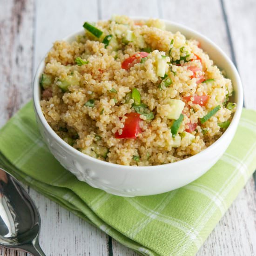
{"type": "Polygon", "coordinates": [[[225,0],[227,18],[233,41],[237,66],[242,78],[245,105],[256,109],[254,56],[256,55],[256,1],[225,0]]]}

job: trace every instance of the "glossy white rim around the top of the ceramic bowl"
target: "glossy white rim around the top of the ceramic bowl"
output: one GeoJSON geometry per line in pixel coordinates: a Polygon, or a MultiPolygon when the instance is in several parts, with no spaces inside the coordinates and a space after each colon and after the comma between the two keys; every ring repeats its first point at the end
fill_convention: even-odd
{"type": "MultiPolygon", "coordinates": [[[[133,20],[148,20],[149,17],[130,17],[133,20]]],[[[233,64],[233,62],[230,60],[230,58],[227,56],[227,54],[225,54],[223,52],[223,50],[218,47],[212,40],[210,40],[209,38],[207,38],[206,36],[202,35],[199,32],[196,32],[194,29],[191,29],[187,26],[184,26],[182,24],[173,22],[171,20],[165,20],[165,19],[159,19],[164,21],[166,24],[170,25],[170,26],[174,26],[177,27],[179,29],[182,30],[186,30],[188,31],[190,34],[193,34],[193,37],[195,37],[195,39],[202,39],[204,40],[209,46],[213,47],[215,50],[217,50],[219,52],[219,54],[222,55],[222,57],[227,61],[228,66],[231,68],[231,72],[233,72],[234,76],[235,76],[235,81],[237,83],[237,89],[236,89],[236,94],[237,94],[237,107],[236,107],[236,112],[230,122],[229,127],[224,131],[224,133],[213,143],[211,144],[209,147],[203,149],[202,151],[200,151],[199,153],[189,156],[188,158],[182,159],[180,161],[177,162],[172,162],[172,163],[166,163],[166,164],[162,164],[162,165],[150,165],[150,166],[130,166],[130,165],[121,165],[121,164],[117,164],[117,163],[111,163],[111,162],[106,162],[103,160],[99,160],[96,159],[92,156],[83,154],[82,152],[80,152],[79,150],[73,148],[72,146],[70,146],[69,144],[67,144],[67,142],[65,142],[64,140],[61,139],[61,137],[59,137],[54,130],[51,128],[51,126],[48,124],[48,122],[46,121],[41,107],[40,107],[40,97],[38,97],[39,95],[39,90],[40,90],[40,85],[39,85],[39,77],[40,74],[43,71],[43,68],[45,67],[45,57],[46,55],[43,57],[43,59],[40,61],[39,66],[37,67],[36,73],[34,75],[34,81],[33,81],[33,103],[34,103],[34,109],[36,112],[36,115],[38,115],[40,122],[42,123],[43,127],[45,129],[47,129],[47,131],[54,137],[54,139],[59,142],[61,144],[61,147],[65,148],[67,151],[71,151],[71,153],[76,154],[82,158],[84,158],[85,160],[88,161],[92,161],[95,162],[95,164],[100,164],[100,165],[106,165],[108,167],[112,167],[112,168],[122,168],[122,169],[130,169],[134,170],[134,171],[138,171],[138,170],[143,170],[143,171],[148,171],[148,170],[152,170],[152,169],[159,169],[160,167],[175,167],[176,165],[181,165],[181,164],[186,164],[189,163],[191,161],[196,161],[197,159],[200,160],[201,156],[203,156],[203,154],[207,154],[210,153],[211,150],[213,150],[214,148],[218,147],[218,144],[220,143],[220,141],[223,141],[227,136],[228,133],[231,129],[236,129],[238,126],[238,121],[240,119],[241,113],[242,113],[242,108],[243,108],[243,86],[242,86],[242,81],[241,78],[238,74],[238,71],[235,67],[235,65],[233,64]]],[[[83,33],[83,29],[75,32],[75,33],[71,33],[68,34],[66,37],[64,37],[62,40],[69,40],[70,38],[82,34],[83,33]]],[[[47,53],[52,49],[52,47],[47,51],[47,53]]]]}

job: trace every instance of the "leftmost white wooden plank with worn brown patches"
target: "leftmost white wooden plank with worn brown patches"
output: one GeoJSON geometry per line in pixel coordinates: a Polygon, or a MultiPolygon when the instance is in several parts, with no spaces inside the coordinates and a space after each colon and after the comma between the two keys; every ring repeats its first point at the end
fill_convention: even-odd
{"type": "MultiPolygon", "coordinates": [[[[33,0],[0,1],[0,126],[31,97],[33,0]]],[[[0,247],[0,255],[25,256],[0,247]]]]}

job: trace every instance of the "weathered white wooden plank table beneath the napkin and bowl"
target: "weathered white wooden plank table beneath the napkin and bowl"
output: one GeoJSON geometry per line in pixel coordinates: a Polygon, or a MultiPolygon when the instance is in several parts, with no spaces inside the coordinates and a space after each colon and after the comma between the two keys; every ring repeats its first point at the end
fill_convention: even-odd
{"type": "MultiPolygon", "coordinates": [[[[52,42],[86,20],[112,14],[169,19],[205,34],[236,64],[246,107],[256,109],[256,0],[0,0],[0,126],[31,98],[35,69],[52,42]]],[[[256,255],[254,186],[251,178],[197,256],[256,255]]],[[[47,256],[137,255],[27,189],[40,212],[40,244],[47,256]]],[[[0,255],[27,254],[0,248],[0,255]]]]}

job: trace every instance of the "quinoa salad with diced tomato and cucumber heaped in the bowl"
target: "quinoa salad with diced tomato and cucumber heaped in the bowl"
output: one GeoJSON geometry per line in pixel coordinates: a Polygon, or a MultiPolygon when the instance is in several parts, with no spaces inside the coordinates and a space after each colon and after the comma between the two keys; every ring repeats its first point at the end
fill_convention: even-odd
{"type": "Polygon", "coordinates": [[[42,112],[69,145],[107,162],[160,165],[199,153],[228,128],[232,83],[199,41],[157,19],[83,27],[76,40],[54,42],[40,77],[42,112]]]}

